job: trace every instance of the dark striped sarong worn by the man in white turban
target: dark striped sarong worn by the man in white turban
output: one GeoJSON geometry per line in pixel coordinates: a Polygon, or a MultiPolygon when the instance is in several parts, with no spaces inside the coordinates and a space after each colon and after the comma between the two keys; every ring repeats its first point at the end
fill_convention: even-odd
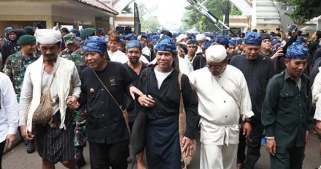
{"type": "Polygon", "coordinates": [[[34,126],[35,143],[39,156],[50,164],[67,161],[75,156],[73,115],[66,112],[66,130],[60,129],[60,112],[52,116],[52,122],[57,124],[51,128],[49,124],[34,126]]]}

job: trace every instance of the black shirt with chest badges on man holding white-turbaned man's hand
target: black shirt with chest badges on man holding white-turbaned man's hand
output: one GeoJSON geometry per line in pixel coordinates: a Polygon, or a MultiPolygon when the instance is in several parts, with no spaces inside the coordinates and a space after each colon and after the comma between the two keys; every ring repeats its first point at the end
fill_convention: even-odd
{"type": "MultiPolygon", "coordinates": [[[[126,68],[113,61],[108,61],[102,71],[96,72],[106,88],[123,108],[124,97],[132,79],[126,68]]],[[[80,104],[86,104],[87,139],[94,143],[117,143],[129,138],[122,112],[113,98],[104,89],[93,70],[85,68],[81,73],[80,104]]]]}

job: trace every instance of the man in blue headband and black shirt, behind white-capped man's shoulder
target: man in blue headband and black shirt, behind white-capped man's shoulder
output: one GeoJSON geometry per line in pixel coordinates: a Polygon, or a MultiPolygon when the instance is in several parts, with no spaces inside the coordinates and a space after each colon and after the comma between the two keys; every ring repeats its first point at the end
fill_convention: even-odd
{"type": "Polygon", "coordinates": [[[260,55],[262,37],[256,32],[246,32],[244,37],[245,54],[234,56],[230,60],[230,65],[242,71],[248,86],[249,95],[252,102],[251,117],[252,131],[247,139],[247,153],[245,159],[245,137],[240,132],[238,167],[253,168],[260,158],[261,138],[263,136],[263,125],[261,122],[261,110],[265,96],[266,85],[274,75],[273,61],[266,56],[260,55]]]}

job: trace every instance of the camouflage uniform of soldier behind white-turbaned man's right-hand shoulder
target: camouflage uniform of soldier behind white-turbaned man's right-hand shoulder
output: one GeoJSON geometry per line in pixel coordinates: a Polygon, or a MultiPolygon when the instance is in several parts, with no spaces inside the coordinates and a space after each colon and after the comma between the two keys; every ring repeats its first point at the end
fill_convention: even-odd
{"type": "MultiPolygon", "coordinates": [[[[68,51],[67,49],[65,50],[68,51]]],[[[81,78],[81,71],[87,67],[85,55],[82,48],[79,48],[72,53],[67,52],[66,55],[62,55],[61,57],[74,61],[79,77],[81,78]]],[[[74,119],[76,123],[74,137],[75,146],[86,146],[85,128],[87,120],[85,113],[86,112],[84,107],[80,107],[80,109],[76,111],[76,117],[74,119]]]]}

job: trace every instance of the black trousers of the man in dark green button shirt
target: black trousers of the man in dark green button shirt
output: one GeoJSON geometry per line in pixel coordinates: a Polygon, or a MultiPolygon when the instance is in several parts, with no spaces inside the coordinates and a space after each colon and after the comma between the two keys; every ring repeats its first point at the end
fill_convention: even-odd
{"type": "Polygon", "coordinates": [[[276,146],[275,156],[270,156],[271,169],[301,169],[305,157],[305,147],[279,147],[276,146]]]}

